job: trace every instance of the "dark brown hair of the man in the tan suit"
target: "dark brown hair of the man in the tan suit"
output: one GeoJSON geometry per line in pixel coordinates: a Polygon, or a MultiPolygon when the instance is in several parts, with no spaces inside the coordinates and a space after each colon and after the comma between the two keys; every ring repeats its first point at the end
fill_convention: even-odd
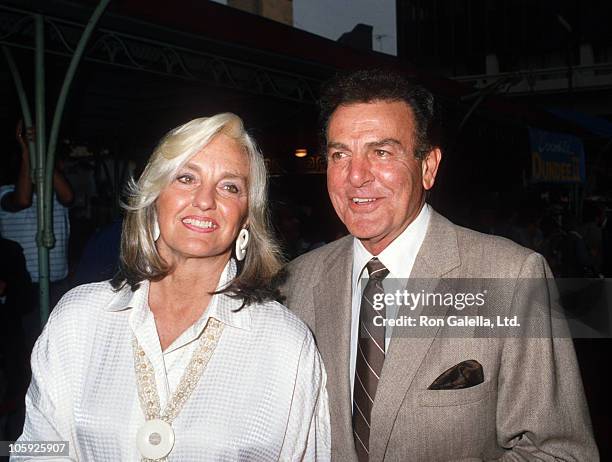
{"type": "Polygon", "coordinates": [[[319,99],[322,145],[326,147],[329,119],[339,106],[374,101],[403,101],[410,107],[414,115],[415,157],[422,159],[440,146],[439,111],[433,94],[389,69],[353,71],[323,85],[319,99]]]}

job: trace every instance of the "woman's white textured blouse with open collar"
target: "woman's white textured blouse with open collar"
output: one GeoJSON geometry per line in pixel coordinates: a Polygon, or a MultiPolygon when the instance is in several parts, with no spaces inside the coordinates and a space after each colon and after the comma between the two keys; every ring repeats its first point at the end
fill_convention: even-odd
{"type": "MultiPolygon", "coordinates": [[[[234,271],[232,261],[220,287],[234,271]]],[[[162,352],[148,290],[148,282],[134,292],[101,282],[62,298],[32,353],[19,441],[68,441],[65,460],[140,461],[136,433],[145,417],[133,336],[155,369],[163,410],[213,317],[225,328],[172,422],[176,441],[168,460],[330,459],[325,370],[302,321],[276,302],[235,311],[239,300],[215,295],[204,315],[162,352]]]]}

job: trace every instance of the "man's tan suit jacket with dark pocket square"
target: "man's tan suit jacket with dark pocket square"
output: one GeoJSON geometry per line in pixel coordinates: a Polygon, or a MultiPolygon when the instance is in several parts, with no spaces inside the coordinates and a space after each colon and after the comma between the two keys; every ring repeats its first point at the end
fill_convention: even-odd
{"type": "MultiPolygon", "coordinates": [[[[349,377],[353,238],[295,259],[287,306],[312,329],[328,375],[332,455],[356,461],[349,377]]],[[[542,278],[544,259],[432,212],[411,278],[542,278]]],[[[395,331],[394,331],[395,332],[395,331]]],[[[370,434],[371,461],[599,460],[571,339],[393,336],[370,434]],[[428,390],[469,359],[484,382],[428,390]]]]}

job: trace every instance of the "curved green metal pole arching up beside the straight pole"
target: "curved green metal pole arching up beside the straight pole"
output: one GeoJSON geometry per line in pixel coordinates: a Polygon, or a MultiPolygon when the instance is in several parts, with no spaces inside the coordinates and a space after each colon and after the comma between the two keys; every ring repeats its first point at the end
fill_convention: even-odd
{"type": "Polygon", "coordinates": [[[59,135],[59,127],[62,122],[62,115],[64,113],[64,107],[66,105],[66,98],[68,96],[68,91],[70,90],[70,85],[72,84],[72,80],[74,79],[74,75],[76,73],[77,67],[81,58],[83,57],[83,53],[85,51],[85,46],[91,37],[91,34],[96,27],[100,16],[104,13],[104,10],[110,3],[110,0],[101,0],[96,9],[94,10],[91,18],[89,18],[89,22],[83,31],[83,35],[79,39],[79,43],[77,44],[76,49],[74,50],[74,55],[70,60],[70,65],[68,66],[68,70],[66,71],[66,76],[64,77],[64,82],[62,84],[62,88],[59,93],[59,97],[57,98],[57,105],[55,106],[55,113],[53,114],[53,122],[51,125],[51,133],[49,134],[49,148],[47,150],[47,164],[45,169],[45,222],[49,224],[48,227],[45,228],[45,234],[43,236],[43,242],[48,248],[51,248],[55,245],[55,236],[53,235],[53,168],[55,165],[55,149],[57,148],[57,137],[59,135]]]}

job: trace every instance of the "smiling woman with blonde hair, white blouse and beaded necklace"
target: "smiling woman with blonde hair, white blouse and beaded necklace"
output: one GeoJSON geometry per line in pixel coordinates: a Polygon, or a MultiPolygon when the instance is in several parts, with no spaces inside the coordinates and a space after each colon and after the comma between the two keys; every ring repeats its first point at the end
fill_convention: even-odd
{"type": "Polygon", "coordinates": [[[69,292],[37,342],[21,440],[96,462],[329,459],[325,372],[272,301],[265,166],[242,121],[168,133],[126,209],[118,275],[69,292]]]}

